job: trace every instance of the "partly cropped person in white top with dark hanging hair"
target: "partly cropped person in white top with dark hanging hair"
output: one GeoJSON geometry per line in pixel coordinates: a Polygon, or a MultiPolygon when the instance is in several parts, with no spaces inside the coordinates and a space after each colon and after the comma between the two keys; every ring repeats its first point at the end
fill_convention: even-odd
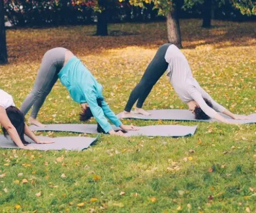
{"type": "Polygon", "coordinates": [[[21,149],[34,149],[26,147],[28,142],[25,141],[24,134],[31,138],[35,143],[46,144],[54,143],[53,141],[40,141],[30,128],[25,124],[23,113],[15,107],[12,96],[0,89],[0,124],[4,136],[9,134],[13,142],[21,149]]]}

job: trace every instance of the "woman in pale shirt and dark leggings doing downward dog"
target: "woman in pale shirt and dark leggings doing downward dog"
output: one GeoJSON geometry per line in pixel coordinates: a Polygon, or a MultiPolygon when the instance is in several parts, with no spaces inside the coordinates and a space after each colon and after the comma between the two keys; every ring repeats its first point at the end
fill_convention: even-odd
{"type": "Polygon", "coordinates": [[[232,119],[248,119],[247,116],[237,116],[216,103],[207,92],[201,88],[193,78],[190,66],[185,55],[174,44],[166,43],[159,47],[153,60],[148,65],[141,81],[133,89],[125,106],[123,117],[129,116],[132,106],[137,105],[135,113],[149,115],[142,109],[142,105],[153,86],[164,72],[168,70],[171,85],[180,99],[188,105],[196,119],[209,119],[210,117],[225,123],[230,123],[217,112],[224,113],[232,119]]]}

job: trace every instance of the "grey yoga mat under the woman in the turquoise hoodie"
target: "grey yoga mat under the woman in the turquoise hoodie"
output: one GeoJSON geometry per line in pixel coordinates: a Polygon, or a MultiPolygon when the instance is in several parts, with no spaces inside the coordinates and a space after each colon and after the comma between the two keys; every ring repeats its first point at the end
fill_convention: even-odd
{"type": "MultiPolygon", "coordinates": [[[[114,130],[120,130],[112,126],[114,130]]],[[[98,133],[96,124],[49,124],[45,128],[30,126],[34,131],[65,131],[79,133],[98,133]]],[[[127,136],[168,136],[182,137],[193,135],[197,126],[181,126],[181,125],[157,125],[143,126],[138,131],[127,131],[127,136]]]]}

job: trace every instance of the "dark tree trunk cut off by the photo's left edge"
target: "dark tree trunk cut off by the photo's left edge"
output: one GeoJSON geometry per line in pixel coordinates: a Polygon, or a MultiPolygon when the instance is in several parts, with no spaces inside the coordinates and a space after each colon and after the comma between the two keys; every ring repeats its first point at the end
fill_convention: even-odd
{"type": "Polygon", "coordinates": [[[0,64],[7,64],[7,47],[4,26],[4,4],[0,0],[0,64]]]}

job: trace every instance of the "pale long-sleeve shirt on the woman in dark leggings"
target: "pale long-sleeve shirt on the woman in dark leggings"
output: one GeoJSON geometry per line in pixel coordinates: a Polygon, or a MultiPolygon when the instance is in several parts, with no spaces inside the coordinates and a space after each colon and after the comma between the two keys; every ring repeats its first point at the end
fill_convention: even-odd
{"type": "Polygon", "coordinates": [[[167,49],[165,60],[169,64],[168,76],[170,77],[171,85],[183,102],[196,101],[209,117],[214,117],[217,112],[222,113],[225,110],[194,79],[185,55],[174,44],[171,44],[167,49]],[[212,103],[213,108],[210,108],[205,103],[204,98],[212,103]]]}

